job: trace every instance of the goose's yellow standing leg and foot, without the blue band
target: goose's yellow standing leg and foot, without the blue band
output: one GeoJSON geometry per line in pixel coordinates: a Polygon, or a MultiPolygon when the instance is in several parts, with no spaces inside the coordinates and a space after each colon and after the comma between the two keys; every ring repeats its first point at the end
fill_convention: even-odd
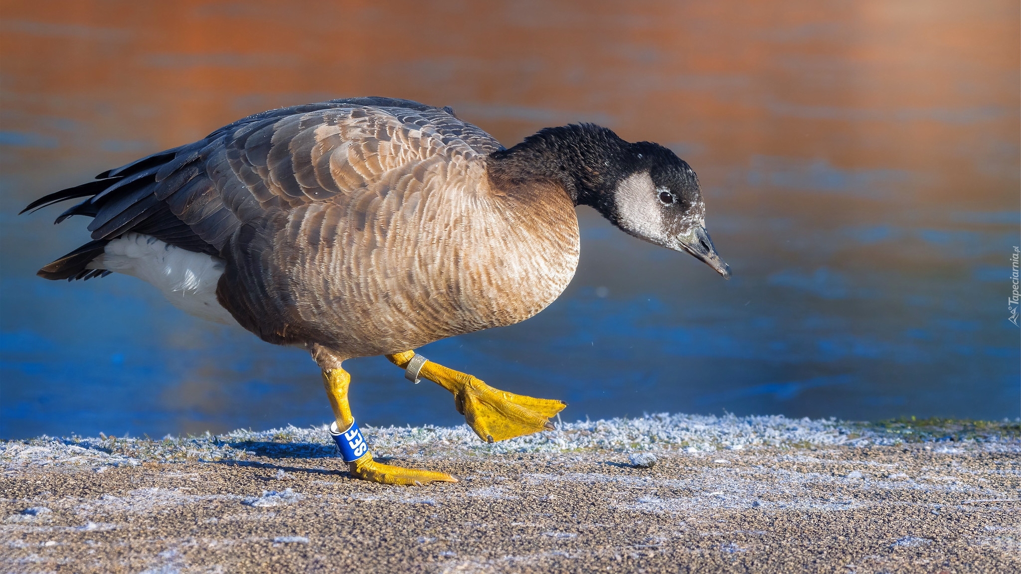
{"type": "MultiPolygon", "coordinates": [[[[327,396],[330,397],[330,406],[333,408],[333,415],[337,419],[337,429],[340,433],[343,433],[346,429],[351,429],[354,424],[354,417],[351,416],[351,406],[347,402],[347,388],[350,384],[351,376],[347,371],[339,367],[323,370],[323,385],[326,387],[327,396]]],[[[373,453],[363,444],[360,446],[364,450],[364,453],[357,460],[348,462],[347,467],[352,476],[362,480],[382,484],[399,484],[402,486],[422,486],[434,481],[457,482],[456,478],[442,472],[405,469],[377,463],[373,460],[373,453]]]]}

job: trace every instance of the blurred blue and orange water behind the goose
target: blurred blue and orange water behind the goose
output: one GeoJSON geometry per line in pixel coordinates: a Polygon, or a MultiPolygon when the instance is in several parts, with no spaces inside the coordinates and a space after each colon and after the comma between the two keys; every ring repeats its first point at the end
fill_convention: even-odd
{"type": "MultiPolygon", "coordinates": [[[[327,421],[304,352],[131,277],[39,279],[87,221],[16,213],[249,113],[358,95],[451,105],[507,146],[579,121],[663,143],[734,272],[583,207],[556,302],[430,358],[571,420],[1019,415],[1017,2],[0,6],[0,437],[327,421]]],[[[463,422],[385,358],[347,368],[363,423],[463,422]]]]}

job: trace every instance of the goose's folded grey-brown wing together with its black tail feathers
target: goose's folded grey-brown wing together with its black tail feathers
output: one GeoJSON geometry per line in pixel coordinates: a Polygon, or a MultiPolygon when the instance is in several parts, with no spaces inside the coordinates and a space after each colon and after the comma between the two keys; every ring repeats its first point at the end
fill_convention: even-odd
{"type": "Polygon", "coordinates": [[[392,98],[338,99],[250,115],[203,140],[41,197],[22,212],[87,197],[56,223],[92,217],[93,241],[39,273],[48,279],[87,279],[106,273],[86,266],[107,242],[129,232],[218,255],[245,222],[324,201],[343,208],[317,217],[332,222],[346,212],[360,228],[385,193],[363,193],[374,183],[389,178],[396,184],[409,176],[421,180],[414,176],[415,164],[430,164],[440,159],[437,153],[483,156],[498,149],[502,146],[491,136],[457,119],[449,108],[392,98]],[[394,174],[401,166],[410,173],[394,174]]]}

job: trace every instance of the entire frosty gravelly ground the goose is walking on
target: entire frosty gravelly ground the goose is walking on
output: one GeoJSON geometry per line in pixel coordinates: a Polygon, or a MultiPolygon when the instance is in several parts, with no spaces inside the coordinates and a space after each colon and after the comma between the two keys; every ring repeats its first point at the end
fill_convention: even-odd
{"type": "Polygon", "coordinates": [[[351,479],[325,427],[0,444],[17,572],[1017,572],[1017,422],[655,415],[497,444],[363,431],[458,484],[351,479]]]}

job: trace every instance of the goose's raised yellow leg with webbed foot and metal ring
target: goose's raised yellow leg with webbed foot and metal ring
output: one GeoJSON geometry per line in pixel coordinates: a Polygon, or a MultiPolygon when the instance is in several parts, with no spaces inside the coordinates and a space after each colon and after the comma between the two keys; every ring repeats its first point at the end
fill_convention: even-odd
{"type": "MultiPolygon", "coordinates": [[[[407,369],[415,351],[388,354],[386,357],[397,367],[407,369]]],[[[471,375],[431,361],[424,362],[418,376],[453,393],[457,412],[465,416],[475,434],[487,442],[553,430],[549,417],[567,406],[562,400],[533,398],[494,389],[471,375]]]]}

